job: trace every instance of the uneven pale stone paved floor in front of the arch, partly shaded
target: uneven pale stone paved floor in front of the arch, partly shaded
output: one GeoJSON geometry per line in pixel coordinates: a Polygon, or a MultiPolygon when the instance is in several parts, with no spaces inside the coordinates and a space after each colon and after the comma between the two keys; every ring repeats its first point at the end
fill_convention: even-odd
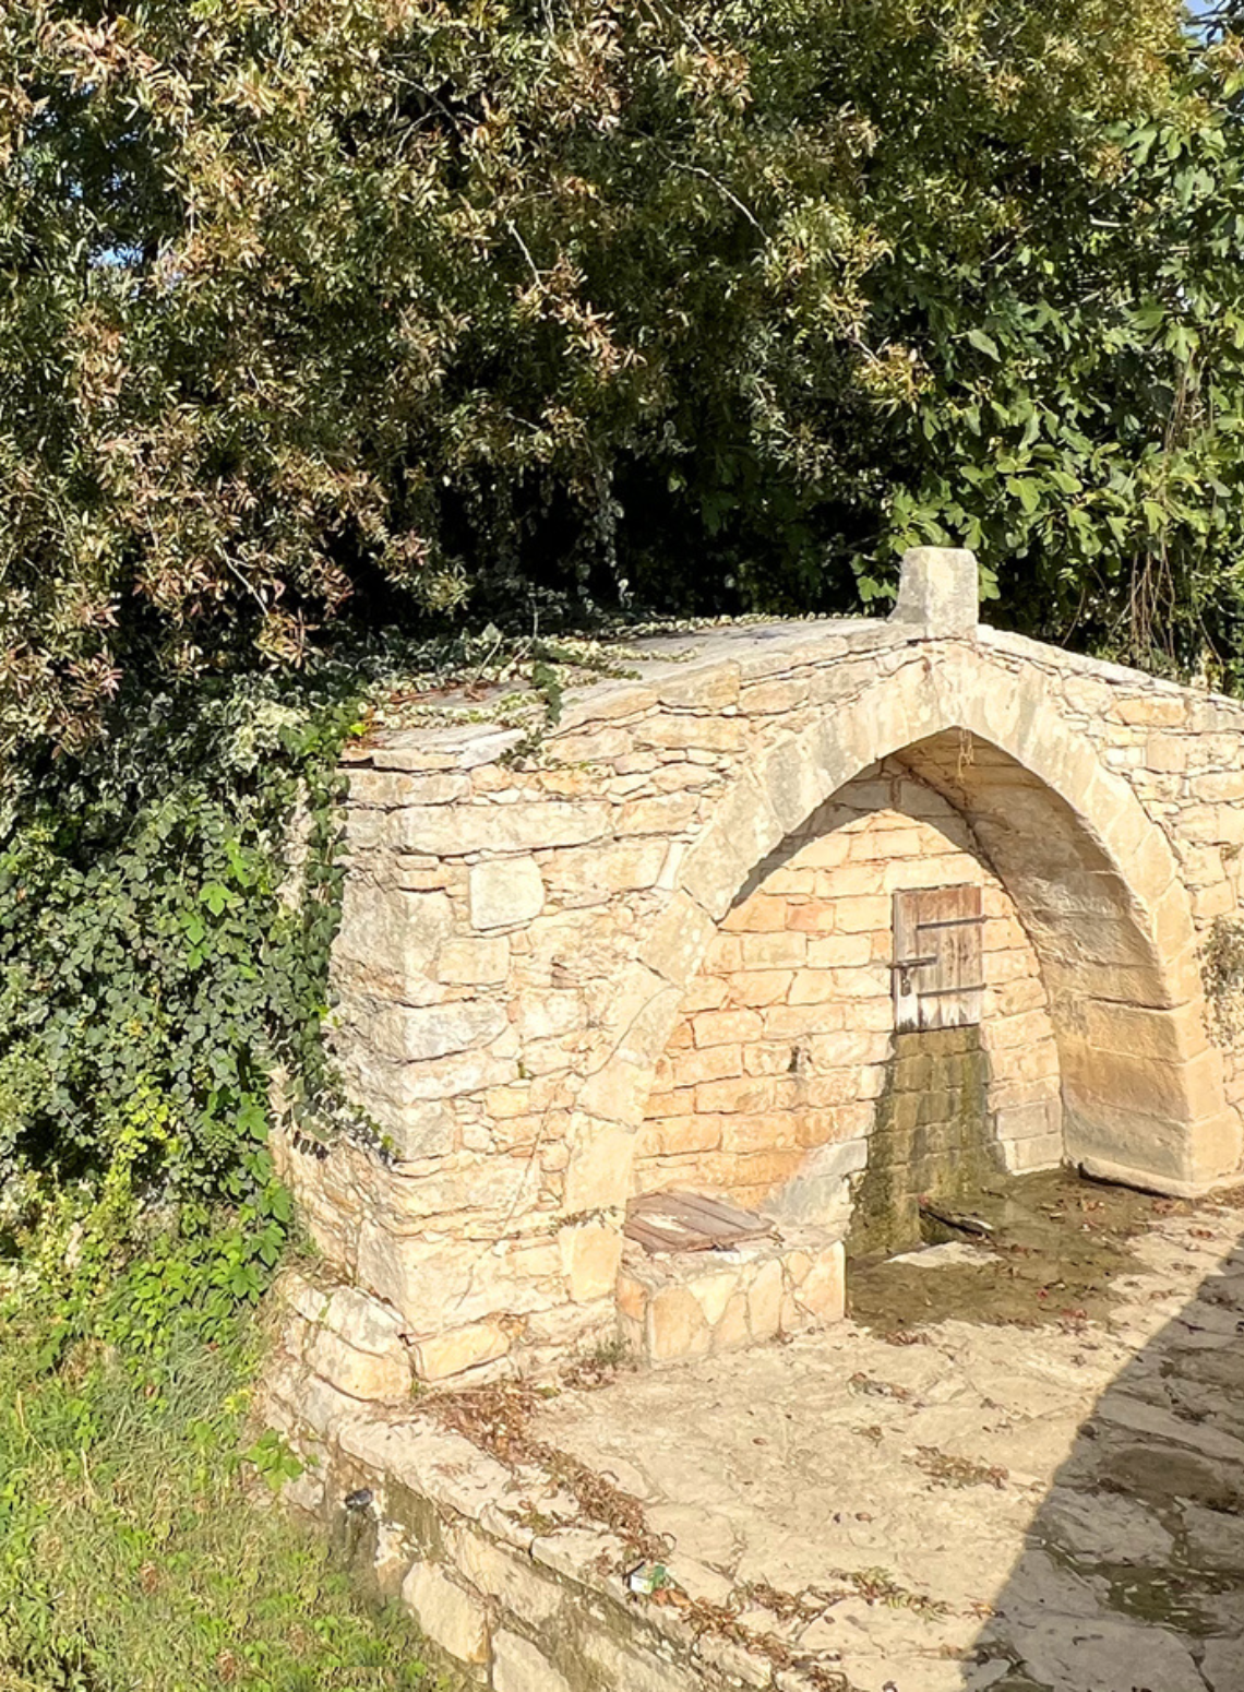
{"type": "Polygon", "coordinates": [[[1154,1205],[1105,1310],[846,1321],[533,1431],[643,1501],[692,1599],[858,1692],[1244,1692],[1242,1237],[1154,1205]]]}

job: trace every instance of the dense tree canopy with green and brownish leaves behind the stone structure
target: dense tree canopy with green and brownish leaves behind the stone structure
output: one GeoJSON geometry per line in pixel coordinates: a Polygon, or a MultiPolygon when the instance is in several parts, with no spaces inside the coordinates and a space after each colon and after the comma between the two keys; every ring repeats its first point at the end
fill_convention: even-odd
{"type": "Polygon", "coordinates": [[[1222,24],[7,8],[0,741],[350,623],[851,607],[917,538],[1022,628],[1230,680],[1222,24]]]}

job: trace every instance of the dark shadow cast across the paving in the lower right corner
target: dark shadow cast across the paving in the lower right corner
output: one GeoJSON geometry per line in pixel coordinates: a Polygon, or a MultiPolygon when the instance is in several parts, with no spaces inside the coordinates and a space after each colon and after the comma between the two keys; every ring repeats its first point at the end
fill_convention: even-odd
{"type": "Polygon", "coordinates": [[[965,1692],[1244,1692],[1244,1239],[1212,1261],[1156,1333],[1137,1313],[965,1692]]]}

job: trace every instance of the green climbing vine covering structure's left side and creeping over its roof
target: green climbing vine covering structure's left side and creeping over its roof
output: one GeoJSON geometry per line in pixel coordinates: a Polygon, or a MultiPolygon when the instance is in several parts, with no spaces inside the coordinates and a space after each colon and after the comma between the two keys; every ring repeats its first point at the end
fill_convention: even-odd
{"type": "Polygon", "coordinates": [[[603,672],[592,643],[496,629],[379,643],[135,695],[81,760],[22,772],[0,816],[0,1296],[47,1289],[49,1355],[102,1323],[149,1350],[173,1308],[210,1328],[262,1291],[291,1227],[274,1076],[301,1132],[366,1130],[323,1037],[347,739],[457,712],[537,758],[567,680],[603,672]]]}

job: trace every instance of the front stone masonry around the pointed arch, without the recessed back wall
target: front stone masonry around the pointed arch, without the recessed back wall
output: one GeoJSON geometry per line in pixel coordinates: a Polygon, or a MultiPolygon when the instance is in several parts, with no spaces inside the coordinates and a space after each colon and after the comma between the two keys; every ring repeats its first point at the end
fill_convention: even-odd
{"type": "MultiPolygon", "coordinates": [[[[1241,912],[1244,707],[977,628],[973,572],[912,557],[890,623],[645,643],[537,758],[477,721],[354,750],[335,1039],[388,1145],[281,1152],[421,1379],[614,1332],[636,1132],[685,993],[740,892],[887,758],[965,819],[1014,956],[1038,959],[1046,1008],[1016,1015],[1038,1044],[1053,1029],[1065,1154],[1170,1193],[1239,1169],[1244,1052],[1210,1039],[1200,951],[1241,912]]],[[[1041,1083],[1010,1105],[1036,1107],[1043,1161],[1049,1078],[1012,1079],[1041,1083]]]]}

